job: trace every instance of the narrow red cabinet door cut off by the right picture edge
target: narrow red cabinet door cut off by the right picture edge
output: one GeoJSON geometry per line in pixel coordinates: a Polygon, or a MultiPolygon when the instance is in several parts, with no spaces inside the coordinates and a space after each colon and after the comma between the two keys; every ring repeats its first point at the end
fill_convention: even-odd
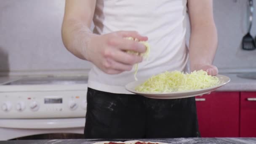
{"type": "Polygon", "coordinates": [[[256,92],[241,92],[240,136],[256,137],[256,92]]]}

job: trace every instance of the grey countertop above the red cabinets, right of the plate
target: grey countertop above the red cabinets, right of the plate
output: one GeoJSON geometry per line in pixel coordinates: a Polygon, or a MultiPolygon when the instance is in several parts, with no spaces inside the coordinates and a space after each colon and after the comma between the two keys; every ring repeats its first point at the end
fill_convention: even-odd
{"type": "Polygon", "coordinates": [[[230,78],[230,82],[216,91],[256,91],[256,79],[237,77],[237,74],[220,73],[230,78]]]}

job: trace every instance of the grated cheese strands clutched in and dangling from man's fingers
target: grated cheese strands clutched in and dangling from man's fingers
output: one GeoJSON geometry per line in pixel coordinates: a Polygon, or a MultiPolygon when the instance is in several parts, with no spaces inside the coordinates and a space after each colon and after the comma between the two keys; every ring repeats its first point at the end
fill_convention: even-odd
{"type": "MultiPolygon", "coordinates": [[[[145,47],[146,47],[146,52],[145,53],[139,53],[139,52],[135,52],[135,51],[126,51],[127,53],[136,54],[136,55],[142,56],[144,59],[145,58],[148,59],[149,52],[150,52],[150,47],[149,47],[149,43],[147,43],[147,41],[139,41],[137,38],[133,38],[133,37],[125,37],[125,38],[128,39],[128,40],[135,40],[135,41],[145,45],[145,47]]],[[[138,65],[139,64],[137,63],[134,66],[135,67],[134,78],[135,78],[136,81],[138,80],[137,77],[136,77],[136,74],[138,72],[138,65]]]]}

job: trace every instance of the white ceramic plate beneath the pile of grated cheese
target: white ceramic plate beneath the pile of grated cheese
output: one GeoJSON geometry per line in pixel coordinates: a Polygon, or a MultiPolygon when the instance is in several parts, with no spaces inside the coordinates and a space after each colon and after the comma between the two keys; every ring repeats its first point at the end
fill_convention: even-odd
{"type": "Polygon", "coordinates": [[[146,96],[148,98],[153,98],[153,99],[179,99],[179,98],[187,98],[187,97],[192,97],[192,96],[200,96],[205,93],[209,93],[211,91],[215,91],[217,88],[220,88],[223,85],[226,85],[229,83],[230,78],[224,75],[216,75],[216,77],[219,77],[221,83],[219,85],[213,86],[211,88],[203,88],[199,90],[194,90],[194,91],[178,91],[178,92],[171,92],[171,93],[149,93],[149,92],[138,92],[135,91],[136,86],[140,85],[141,83],[144,83],[144,81],[134,81],[131,83],[128,83],[125,85],[125,89],[127,91],[130,91],[132,93],[146,96]]]}

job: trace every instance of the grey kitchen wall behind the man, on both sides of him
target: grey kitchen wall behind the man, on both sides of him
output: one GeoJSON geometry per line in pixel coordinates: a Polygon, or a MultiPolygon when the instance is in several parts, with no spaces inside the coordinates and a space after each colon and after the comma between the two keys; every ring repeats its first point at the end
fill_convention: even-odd
{"type": "MultiPolygon", "coordinates": [[[[214,64],[220,69],[256,68],[256,50],[241,50],[241,40],[248,29],[247,0],[213,2],[219,35],[214,64]]],[[[64,0],[0,0],[2,75],[10,71],[72,72],[91,68],[89,62],[69,53],[61,41],[64,3],[64,0]]],[[[251,32],[256,35],[256,24],[253,24],[251,32]]]]}

